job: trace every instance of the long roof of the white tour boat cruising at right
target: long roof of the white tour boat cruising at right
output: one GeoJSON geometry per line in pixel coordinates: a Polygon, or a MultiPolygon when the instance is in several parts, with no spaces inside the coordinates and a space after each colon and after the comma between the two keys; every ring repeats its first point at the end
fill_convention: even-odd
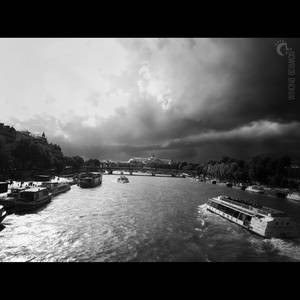
{"type": "Polygon", "coordinates": [[[251,215],[263,215],[263,216],[284,216],[285,213],[281,210],[277,210],[274,208],[266,207],[266,206],[259,206],[256,204],[248,204],[243,200],[234,199],[229,196],[219,196],[218,198],[212,198],[211,200],[225,202],[225,204],[229,204],[231,207],[235,206],[239,210],[251,214],[251,215]]]}

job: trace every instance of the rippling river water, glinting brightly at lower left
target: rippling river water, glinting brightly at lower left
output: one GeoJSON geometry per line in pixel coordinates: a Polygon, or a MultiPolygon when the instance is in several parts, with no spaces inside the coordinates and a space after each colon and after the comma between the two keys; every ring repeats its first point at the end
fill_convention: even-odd
{"type": "Polygon", "coordinates": [[[209,197],[227,194],[300,223],[297,203],[190,178],[129,180],[105,175],[101,186],[72,186],[38,212],[9,215],[0,261],[300,261],[300,238],[264,239],[205,209],[209,197]]]}

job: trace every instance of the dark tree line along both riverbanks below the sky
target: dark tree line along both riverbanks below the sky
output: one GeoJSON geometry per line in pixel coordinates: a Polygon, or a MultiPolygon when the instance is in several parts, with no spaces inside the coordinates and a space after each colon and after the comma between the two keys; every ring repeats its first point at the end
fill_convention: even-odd
{"type": "MultiPolygon", "coordinates": [[[[107,164],[118,166],[118,162],[107,164]]],[[[102,165],[99,159],[84,160],[78,155],[64,155],[60,146],[49,143],[44,133],[35,135],[28,131],[16,131],[0,123],[0,180],[29,179],[37,174],[72,174],[78,173],[84,166],[100,168],[102,165]]],[[[287,188],[298,188],[300,178],[299,162],[292,161],[289,156],[256,155],[248,160],[224,156],[220,160],[202,163],[181,161],[172,166],[151,167],[178,169],[195,176],[204,175],[222,181],[259,182],[287,188]]]]}

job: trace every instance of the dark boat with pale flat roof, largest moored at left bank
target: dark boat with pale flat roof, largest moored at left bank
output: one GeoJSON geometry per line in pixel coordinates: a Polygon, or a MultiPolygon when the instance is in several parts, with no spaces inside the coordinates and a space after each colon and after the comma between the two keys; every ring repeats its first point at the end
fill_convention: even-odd
{"type": "Polygon", "coordinates": [[[19,193],[15,200],[15,211],[26,212],[37,209],[51,201],[48,189],[43,187],[30,188],[19,193]]]}

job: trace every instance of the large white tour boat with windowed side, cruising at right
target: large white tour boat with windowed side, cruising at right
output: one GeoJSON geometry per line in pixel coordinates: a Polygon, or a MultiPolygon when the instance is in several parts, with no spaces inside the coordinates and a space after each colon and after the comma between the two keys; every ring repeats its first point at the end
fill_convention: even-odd
{"type": "Polygon", "coordinates": [[[207,209],[266,238],[297,236],[296,224],[284,212],[273,208],[221,195],[209,199],[207,209]]]}

